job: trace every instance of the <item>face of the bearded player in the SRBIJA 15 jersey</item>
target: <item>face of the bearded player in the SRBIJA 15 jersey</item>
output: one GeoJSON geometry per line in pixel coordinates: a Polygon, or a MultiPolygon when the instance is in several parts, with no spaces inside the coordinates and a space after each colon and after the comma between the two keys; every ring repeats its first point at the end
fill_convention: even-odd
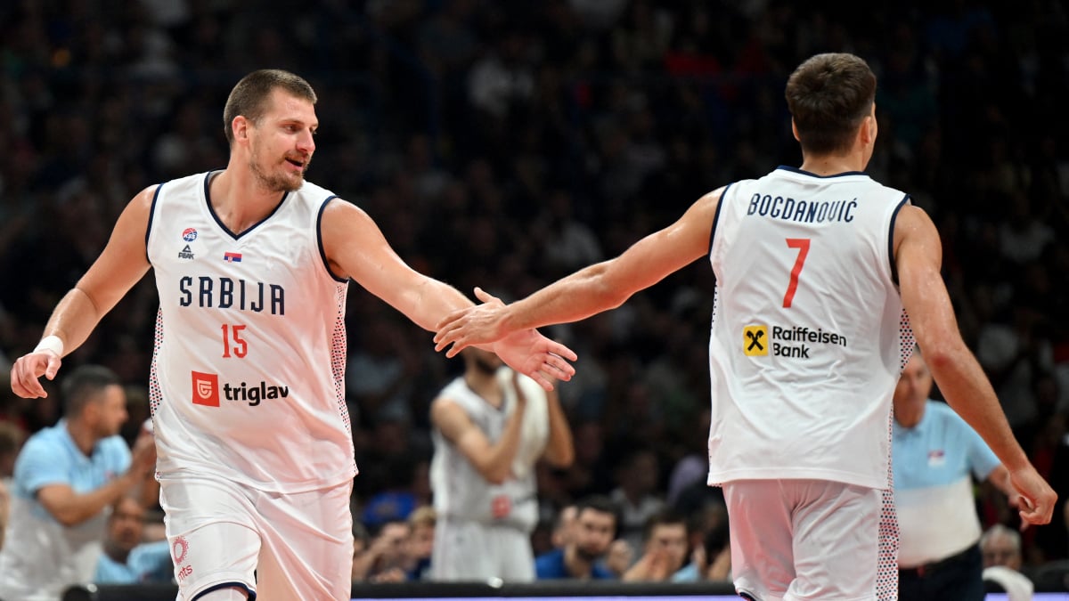
{"type": "Polygon", "coordinates": [[[272,92],[270,108],[249,128],[249,169],[263,187],[279,192],[300,187],[319,125],[312,103],[282,90],[272,92]]]}

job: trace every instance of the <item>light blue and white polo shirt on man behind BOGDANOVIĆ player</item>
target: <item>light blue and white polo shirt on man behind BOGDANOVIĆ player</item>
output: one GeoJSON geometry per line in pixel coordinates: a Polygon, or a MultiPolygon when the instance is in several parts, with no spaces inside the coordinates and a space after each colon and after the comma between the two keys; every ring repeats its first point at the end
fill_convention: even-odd
{"type": "Polygon", "coordinates": [[[894,423],[892,469],[901,541],[898,565],[914,568],[960,553],[980,538],[973,479],[1000,465],[949,405],[929,400],[913,428],[894,423]]]}

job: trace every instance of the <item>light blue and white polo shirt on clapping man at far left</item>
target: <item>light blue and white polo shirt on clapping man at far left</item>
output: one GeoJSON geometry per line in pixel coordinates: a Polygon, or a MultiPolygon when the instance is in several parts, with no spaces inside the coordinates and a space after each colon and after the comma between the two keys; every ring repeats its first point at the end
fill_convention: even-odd
{"type": "Polygon", "coordinates": [[[66,527],[37,502],[36,493],[49,484],[88,493],[129,465],[122,436],[97,442],[86,456],[71,438],[65,419],[30,436],[15,460],[11,520],[0,550],[0,599],[58,599],[71,584],[92,580],[108,510],[66,527]]]}

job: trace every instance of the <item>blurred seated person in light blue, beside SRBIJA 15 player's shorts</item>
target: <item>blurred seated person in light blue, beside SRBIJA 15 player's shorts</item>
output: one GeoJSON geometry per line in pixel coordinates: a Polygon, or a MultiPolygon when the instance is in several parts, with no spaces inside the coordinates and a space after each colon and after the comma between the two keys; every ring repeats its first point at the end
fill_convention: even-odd
{"type": "Polygon", "coordinates": [[[124,496],[108,517],[104,553],[96,565],[96,584],[169,583],[174,572],[171,545],[164,540],[144,540],[145,509],[134,497],[124,496]]]}

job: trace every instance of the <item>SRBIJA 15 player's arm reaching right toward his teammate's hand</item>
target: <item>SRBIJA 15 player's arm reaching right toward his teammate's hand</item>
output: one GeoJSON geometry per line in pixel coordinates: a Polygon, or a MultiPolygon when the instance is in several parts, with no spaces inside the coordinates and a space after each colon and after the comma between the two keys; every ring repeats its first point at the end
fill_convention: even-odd
{"type": "MultiPolygon", "coordinates": [[[[323,215],[323,247],[336,276],[355,280],[409,320],[430,332],[447,314],[471,307],[455,288],[413,269],[390,247],[374,220],[341,199],[331,201],[323,215]]],[[[576,355],[533,328],[511,334],[498,344],[479,344],[496,353],[509,367],[546,390],[555,381],[571,380],[576,355]]]]}

